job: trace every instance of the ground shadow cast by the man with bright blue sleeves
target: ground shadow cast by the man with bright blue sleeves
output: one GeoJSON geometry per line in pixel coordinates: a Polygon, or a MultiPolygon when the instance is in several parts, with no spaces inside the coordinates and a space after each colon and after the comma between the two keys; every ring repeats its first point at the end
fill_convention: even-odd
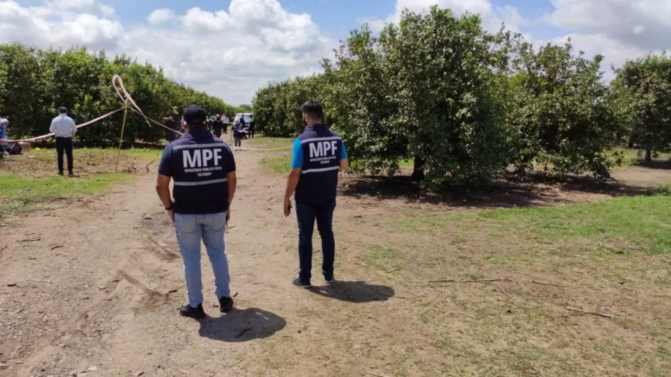
{"type": "Polygon", "coordinates": [[[394,288],[367,284],[366,282],[336,281],[327,286],[315,286],[310,291],[334,300],[357,303],[387,301],[394,296],[394,288]]]}

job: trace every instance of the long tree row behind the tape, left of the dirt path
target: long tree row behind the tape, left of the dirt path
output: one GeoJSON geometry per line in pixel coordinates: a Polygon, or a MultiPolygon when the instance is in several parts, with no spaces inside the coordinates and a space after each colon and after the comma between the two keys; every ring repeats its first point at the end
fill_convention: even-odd
{"type": "MultiPolygon", "coordinates": [[[[227,113],[237,108],[189,86],[177,84],[163,75],[161,68],[139,64],[130,57],[107,57],[104,51],[90,53],[85,48],[39,50],[21,44],[0,44],[0,115],[10,119],[8,133],[14,139],[48,133],[58,107],[66,107],[77,124],[122,107],[111,79],[124,80],[140,109],[159,120],[168,109],[181,110],[201,104],[211,113],[227,113]]],[[[122,111],[101,122],[84,127],[77,138],[84,145],[106,145],[119,140],[122,111]]],[[[126,142],[158,142],[161,127],[148,127],[145,120],[129,113],[126,142]]]]}

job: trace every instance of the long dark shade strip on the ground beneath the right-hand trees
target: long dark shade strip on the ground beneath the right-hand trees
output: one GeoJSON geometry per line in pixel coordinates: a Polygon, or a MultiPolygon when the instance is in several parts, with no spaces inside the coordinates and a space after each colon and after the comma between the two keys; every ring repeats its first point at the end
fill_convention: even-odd
{"type": "Polygon", "coordinates": [[[340,194],[355,199],[405,199],[407,203],[446,204],[452,207],[513,208],[571,202],[569,195],[643,195],[646,187],[589,176],[528,176],[500,178],[486,186],[424,190],[410,176],[345,178],[340,194]]]}

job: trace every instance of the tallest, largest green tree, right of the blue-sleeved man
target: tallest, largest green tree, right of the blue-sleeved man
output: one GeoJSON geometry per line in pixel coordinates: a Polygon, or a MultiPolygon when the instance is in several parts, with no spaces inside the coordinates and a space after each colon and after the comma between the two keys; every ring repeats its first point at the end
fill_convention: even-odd
{"type": "Polygon", "coordinates": [[[415,176],[440,184],[488,178],[506,167],[504,104],[497,95],[501,54],[479,17],[432,7],[405,10],[379,37],[356,30],[325,62],[329,109],[361,166],[393,174],[414,158],[415,176]],[[421,168],[421,169],[420,169],[421,168]]]}

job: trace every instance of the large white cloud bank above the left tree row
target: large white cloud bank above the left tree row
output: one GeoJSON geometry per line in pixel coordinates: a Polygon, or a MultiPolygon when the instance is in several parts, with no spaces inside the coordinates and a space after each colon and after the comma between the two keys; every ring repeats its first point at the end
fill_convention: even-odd
{"type": "Polygon", "coordinates": [[[127,53],[232,104],[249,102],[268,80],[318,71],[335,47],[310,15],[288,12],[277,0],[231,0],[228,10],[196,7],[181,15],[158,9],[146,20],[125,27],[98,0],[48,0],[39,7],[0,0],[0,43],[127,53]]]}

